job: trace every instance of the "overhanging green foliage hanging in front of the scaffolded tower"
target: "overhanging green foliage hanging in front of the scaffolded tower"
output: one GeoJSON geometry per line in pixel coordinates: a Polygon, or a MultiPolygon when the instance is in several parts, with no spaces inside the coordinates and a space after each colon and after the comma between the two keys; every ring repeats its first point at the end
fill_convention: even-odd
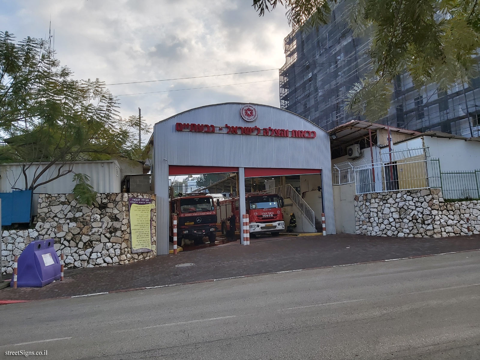
{"type": "Polygon", "coordinates": [[[253,0],[263,16],[283,5],[293,30],[328,24],[332,9],[348,2],[348,24],[355,36],[371,37],[373,70],[348,94],[348,110],[376,121],[388,113],[392,82],[408,72],[420,88],[447,90],[478,73],[479,0],[253,0]]]}

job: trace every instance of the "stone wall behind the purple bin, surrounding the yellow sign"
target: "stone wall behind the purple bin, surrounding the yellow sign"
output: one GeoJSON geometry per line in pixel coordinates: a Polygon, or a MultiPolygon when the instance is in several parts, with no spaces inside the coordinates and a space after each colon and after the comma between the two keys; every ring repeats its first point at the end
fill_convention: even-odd
{"type": "Polygon", "coordinates": [[[40,194],[36,228],[2,233],[2,271],[12,273],[13,257],[38,236],[55,240],[66,268],[128,264],[155,256],[156,208],[151,215],[153,251],[131,252],[129,197],[152,199],[155,204],[151,194],[102,193],[92,206],[78,204],[73,194],[40,194]]]}

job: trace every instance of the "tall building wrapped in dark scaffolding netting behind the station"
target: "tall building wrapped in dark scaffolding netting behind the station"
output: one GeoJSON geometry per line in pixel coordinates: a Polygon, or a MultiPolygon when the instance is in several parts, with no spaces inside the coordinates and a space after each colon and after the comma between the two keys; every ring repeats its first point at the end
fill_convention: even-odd
{"type": "MultiPolygon", "coordinates": [[[[353,36],[347,9],[348,1],[339,2],[329,24],[292,32],[284,40],[286,61],[280,69],[280,107],[325,130],[350,120],[367,120],[345,109],[348,91],[372,69],[366,54],[370,37],[353,36]]],[[[436,85],[416,89],[405,73],[396,77],[394,89],[384,124],[419,132],[479,136],[480,77],[442,92],[436,85]]]]}

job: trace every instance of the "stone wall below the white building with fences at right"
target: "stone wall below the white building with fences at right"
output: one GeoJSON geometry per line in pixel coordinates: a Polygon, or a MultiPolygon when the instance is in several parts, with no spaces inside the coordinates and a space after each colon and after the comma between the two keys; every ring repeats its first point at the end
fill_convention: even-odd
{"type": "Polygon", "coordinates": [[[355,229],[369,236],[433,237],[480,233],[480,201],[445,203],[440,189],[355,197],[355,229]]]}

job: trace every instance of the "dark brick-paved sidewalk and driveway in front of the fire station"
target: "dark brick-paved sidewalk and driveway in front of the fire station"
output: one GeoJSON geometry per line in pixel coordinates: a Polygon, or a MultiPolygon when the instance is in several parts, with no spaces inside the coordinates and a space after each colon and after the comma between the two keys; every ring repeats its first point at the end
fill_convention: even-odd
{"type": "Polygon", "coordinates": [[[43,288],[2,289],[0,300],[70,297],[230,276],[474,250],[480,249],[480,236],[418,239],[341,234],[271,238],[252,242],[250,246],[238,243],[157,256],[135,264],[66,270],[63,282],[43,288]],[[194,265],[175,266],[183,263],[194,265]]]}

